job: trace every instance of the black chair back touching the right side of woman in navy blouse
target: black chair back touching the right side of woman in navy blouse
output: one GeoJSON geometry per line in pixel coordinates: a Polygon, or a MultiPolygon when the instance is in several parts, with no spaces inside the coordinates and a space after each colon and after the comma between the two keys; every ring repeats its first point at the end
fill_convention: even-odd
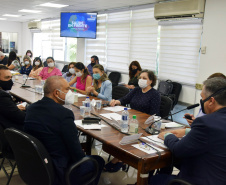
{"type": "Polygon", "coordinates": [[[172,105],[173,101],[169,97],[161,95],[160,116],[162,118],[170,115],[172,105]]]}

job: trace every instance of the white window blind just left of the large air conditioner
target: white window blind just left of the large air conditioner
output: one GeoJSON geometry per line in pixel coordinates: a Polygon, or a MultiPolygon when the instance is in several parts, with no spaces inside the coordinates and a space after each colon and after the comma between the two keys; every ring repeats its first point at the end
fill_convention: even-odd
{"type": "Polygon", "coordinates": [[[130,62],[137,60],[142,69],[156,70],[158,22],[154,8],[132,11],[130,62]]]}

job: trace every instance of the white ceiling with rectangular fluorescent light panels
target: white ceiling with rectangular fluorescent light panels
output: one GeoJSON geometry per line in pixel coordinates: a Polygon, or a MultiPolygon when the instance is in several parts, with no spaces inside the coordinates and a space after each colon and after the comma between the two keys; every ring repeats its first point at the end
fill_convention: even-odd
{"type": "Polygon", "coordinates": [[[7,21],[27,22],[37,19],[48,19],[60,17],[60,12],[99,12],[121,7],[146,5],[163,0],[1,0],[0,18],[7,21]],[[57,3],[69,5],[64,8],[49,8],[38,6],[43,3],[57,3]],[[40,13],[22,13],[21,9],[40,10],[40,13]],[[4,17],[3,14],[17,14],[20,17],[4,17]]]}

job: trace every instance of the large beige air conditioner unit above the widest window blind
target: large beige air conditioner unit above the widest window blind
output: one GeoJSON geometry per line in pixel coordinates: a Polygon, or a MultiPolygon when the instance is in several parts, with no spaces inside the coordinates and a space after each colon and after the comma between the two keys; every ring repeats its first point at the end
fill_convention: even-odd
{"type": "Polygon", "coordinates": [[[203,18],[205,0],[179,0],[155,4],[155,19],[181,17],[203,18]]]}

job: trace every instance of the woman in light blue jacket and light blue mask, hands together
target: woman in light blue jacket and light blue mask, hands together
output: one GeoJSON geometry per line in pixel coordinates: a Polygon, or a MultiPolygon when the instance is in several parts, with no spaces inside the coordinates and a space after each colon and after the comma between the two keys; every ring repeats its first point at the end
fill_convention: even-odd
{"type": "Polygon", "coordinates": [[[104,67],[100,64],[93,66],[93,86],[87,88],[87,92],[97,98],[111,101],[112,83],[104,72],[104,67]]]}

